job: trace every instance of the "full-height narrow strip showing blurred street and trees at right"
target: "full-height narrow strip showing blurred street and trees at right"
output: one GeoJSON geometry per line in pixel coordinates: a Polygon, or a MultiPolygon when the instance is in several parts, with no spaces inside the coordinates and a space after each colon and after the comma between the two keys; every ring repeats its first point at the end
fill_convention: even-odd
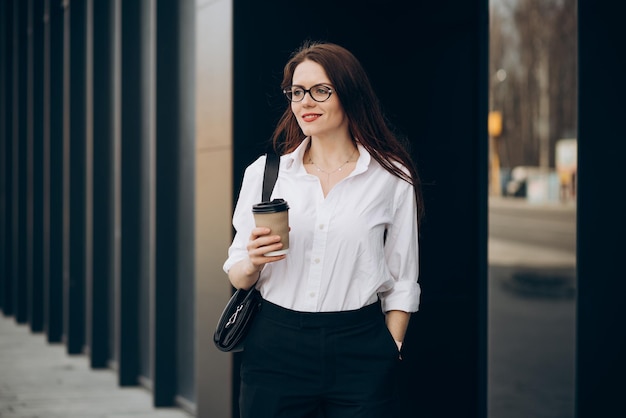
{"type": "Polygon", "coordinates": [[[489,417],[573,417],[574,0],[490,1],[489,417]]]}

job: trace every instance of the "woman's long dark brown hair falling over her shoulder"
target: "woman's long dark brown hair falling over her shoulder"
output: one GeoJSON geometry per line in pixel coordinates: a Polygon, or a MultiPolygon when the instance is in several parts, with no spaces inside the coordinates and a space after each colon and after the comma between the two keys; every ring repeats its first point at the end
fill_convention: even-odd
{"type": "MultiPolygon", "coordinates": [[[[307,41],[285,65],[281,88],[291,85],[296,67],[305,60],[321,65],[326,71],[348,117],[352,137],[385,170],[413,185],[419,222],[424,213],[424,202],[417,169],[405,145],[385,120],[378,97],[361,63],[350,51],[339,45],[307,41]],[[397,163],[406,167],[409,173],[403,171],[397,163]]],[[[303,140],[304,135],[296,117],[291,107],[287,106],[272,136],[274,148],[288,153],[295,150],[303,140]]]]}

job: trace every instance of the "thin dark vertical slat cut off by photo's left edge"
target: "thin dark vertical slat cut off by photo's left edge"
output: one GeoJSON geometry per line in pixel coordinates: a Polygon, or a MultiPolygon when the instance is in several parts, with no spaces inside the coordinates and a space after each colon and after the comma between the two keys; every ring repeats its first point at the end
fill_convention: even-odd
{"type": "MultiPolygon", "coordinates": [[[[5,286],[7,280],[7,115],[9,57],[7,54],[7,3],[0,2],[0,309],[6,309],[5,286]]],[[[6,312],[5,312],[6,314],[6,312]]]]}

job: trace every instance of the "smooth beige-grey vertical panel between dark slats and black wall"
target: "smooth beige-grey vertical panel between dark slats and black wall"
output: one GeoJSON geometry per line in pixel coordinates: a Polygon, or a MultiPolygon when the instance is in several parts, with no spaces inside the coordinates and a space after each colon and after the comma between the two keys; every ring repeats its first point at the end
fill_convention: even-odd
{"type": "Polygon", "coordinates": [[[231,294],[222,264],[232,216],[232,1],[196,3],[195,372],[198,418],[230,417],[232,355],[213,345],[231,294]]]}

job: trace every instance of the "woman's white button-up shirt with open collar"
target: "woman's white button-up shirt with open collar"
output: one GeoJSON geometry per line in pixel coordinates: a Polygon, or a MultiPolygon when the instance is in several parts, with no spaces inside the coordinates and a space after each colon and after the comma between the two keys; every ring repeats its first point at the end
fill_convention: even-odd
{"type": "MultiPolygon", "coordinates": [[[[297,311],[359,309],[380,298],[384,312],[416,312],[420,287],[413,186],[358,145],[355,169],[324,197],[319,179],[303,165],[308,141],[281,157],[272,199],[289,205],[289,254],[266,264],[256,287],[266,300],[297,311]]],[[[261,200],[264,167],[261,156],[245,171],[226,272],[248,257],[252,205],[261,200]]]]}

